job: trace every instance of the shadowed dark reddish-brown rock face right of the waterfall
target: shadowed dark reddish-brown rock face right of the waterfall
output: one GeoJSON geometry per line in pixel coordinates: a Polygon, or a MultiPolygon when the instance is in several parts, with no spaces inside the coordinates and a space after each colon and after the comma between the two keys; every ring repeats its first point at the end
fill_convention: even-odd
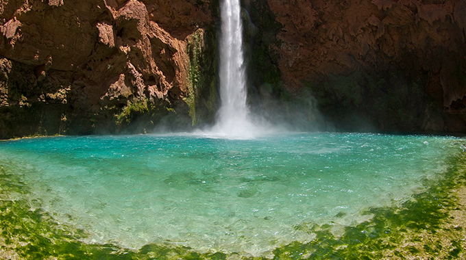
{"type": "Polygon", "coordinates": [[[264,2],[245,3],[268,31],[253,37],[267,46],[256,59],[287,90],[314,96],[336,127],[466,131],[466,1],[264,2]]]}

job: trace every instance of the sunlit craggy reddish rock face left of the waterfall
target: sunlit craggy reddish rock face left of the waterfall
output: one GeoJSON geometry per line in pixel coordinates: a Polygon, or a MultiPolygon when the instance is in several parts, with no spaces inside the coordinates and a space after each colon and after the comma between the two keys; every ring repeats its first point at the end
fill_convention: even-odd
{"type": "Polygon", "coordinates": [[[215,60],[212,6],[192,2],[0,1],[0,138],[191,125],[215,60]]]}

